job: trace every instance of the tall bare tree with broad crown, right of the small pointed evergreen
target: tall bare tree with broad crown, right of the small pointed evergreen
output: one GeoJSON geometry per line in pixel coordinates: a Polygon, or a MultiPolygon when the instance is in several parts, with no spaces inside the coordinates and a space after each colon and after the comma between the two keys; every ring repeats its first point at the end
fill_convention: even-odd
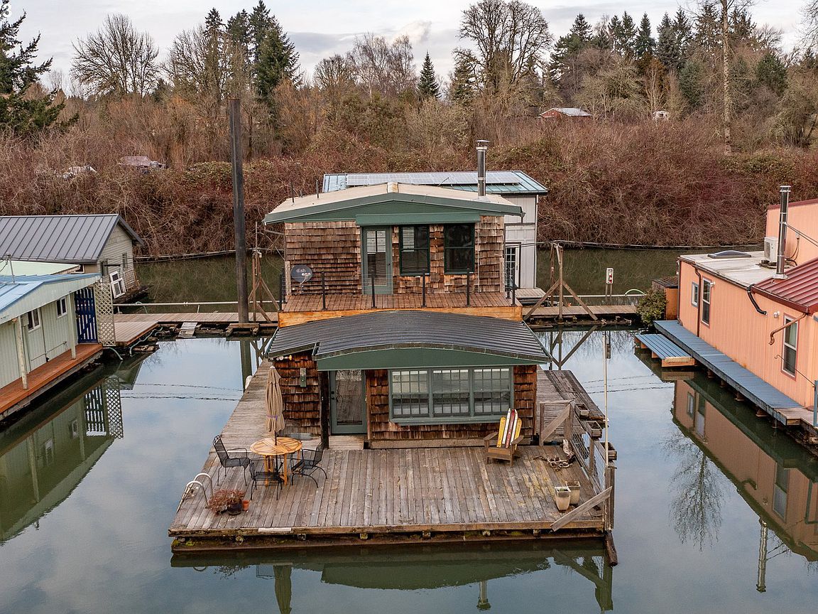
{"type": "Polygon", "coordinates": [[[496,90],[540,68],[551,32],[542,11],[519,0],[480,0],[463,11],[460,38],[477,47],[484,87],[496,90]]]}

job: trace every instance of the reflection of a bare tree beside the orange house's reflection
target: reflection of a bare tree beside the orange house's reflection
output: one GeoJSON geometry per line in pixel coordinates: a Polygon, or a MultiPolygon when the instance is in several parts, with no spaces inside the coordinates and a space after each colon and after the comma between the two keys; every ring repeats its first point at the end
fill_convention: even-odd
{"type": "Polygon", "coordinates": [[[663,447],[679,459],[669,485],[674,493],[669,510],[672,525],[682,544],[690,540],[702,551],[705,544],[718,541],[725,478],[681,431],[667,436],[663,447]]]}

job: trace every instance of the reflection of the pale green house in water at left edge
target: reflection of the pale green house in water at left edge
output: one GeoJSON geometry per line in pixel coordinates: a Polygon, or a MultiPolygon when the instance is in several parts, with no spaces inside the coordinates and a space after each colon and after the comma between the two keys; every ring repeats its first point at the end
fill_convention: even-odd
{"type": "MultiPolygon", "coordinates": [[[[138,362],[122,368],[128,381],[138,362]]],[[[0,543],[38,526],[124,436],[118,373],[98,368],[0,433],[0,543]]]]}

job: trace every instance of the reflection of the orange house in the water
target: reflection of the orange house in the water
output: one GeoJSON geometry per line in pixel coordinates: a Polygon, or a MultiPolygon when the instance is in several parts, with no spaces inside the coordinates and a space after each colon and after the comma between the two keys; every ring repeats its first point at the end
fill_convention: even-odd
{"type": "MultiPolygon", "coordinates": [[[[768,530],[783,548],[807,561],[818,560],[818,458],[769,422],[758,420],[701,373],[675,382],[673,421],[757,513],[761,523],[759,577],[764,590],[768,530]]],[[[717,499],[717,494],[710,493],[717,499]]],[[[712,504],[712,500],[710,502],[712,504]]]]}

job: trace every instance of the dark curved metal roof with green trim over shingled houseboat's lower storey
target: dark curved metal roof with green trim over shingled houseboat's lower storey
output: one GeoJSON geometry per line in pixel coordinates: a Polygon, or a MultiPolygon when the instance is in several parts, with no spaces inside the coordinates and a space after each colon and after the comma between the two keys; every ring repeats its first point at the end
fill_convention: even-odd
{"type": "Polygon", "coordinates": [[[551,360],[523,322],[408,309],[281,327],[268,354],[281,356],[302,351],[312,351],[319,368],[322,360],[343,357],[348,361],[360,354],[367,354],[368,368],[465,366],[464,354],[469,354],[471,366],[551,360]],[[410,354],[414,352],[416,358],[420,350],[434,353],[423,354],[422,364],[411,362],[410,354]]]}

